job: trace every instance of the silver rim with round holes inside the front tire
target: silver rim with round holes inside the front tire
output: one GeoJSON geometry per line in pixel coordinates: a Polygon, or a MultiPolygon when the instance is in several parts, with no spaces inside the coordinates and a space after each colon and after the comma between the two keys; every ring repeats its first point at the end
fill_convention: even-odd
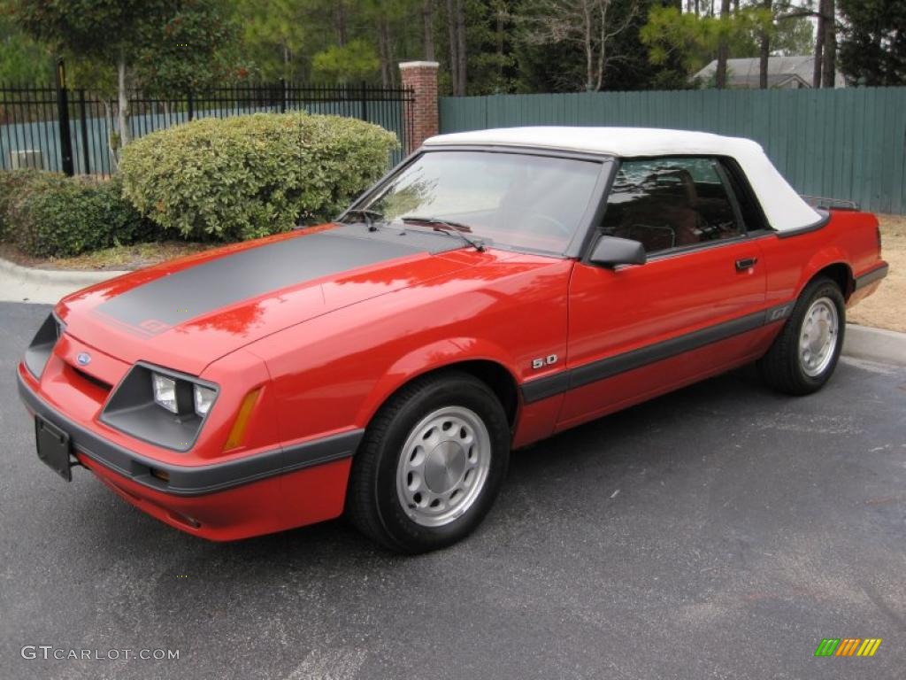
{"type": "Polygon", "coordinates": [[[475,504],[490,464],[491,437],[476,413],[463,406],[429,413],[400,452],[400,505],[423,527],[449,524],[475,504]]]}

